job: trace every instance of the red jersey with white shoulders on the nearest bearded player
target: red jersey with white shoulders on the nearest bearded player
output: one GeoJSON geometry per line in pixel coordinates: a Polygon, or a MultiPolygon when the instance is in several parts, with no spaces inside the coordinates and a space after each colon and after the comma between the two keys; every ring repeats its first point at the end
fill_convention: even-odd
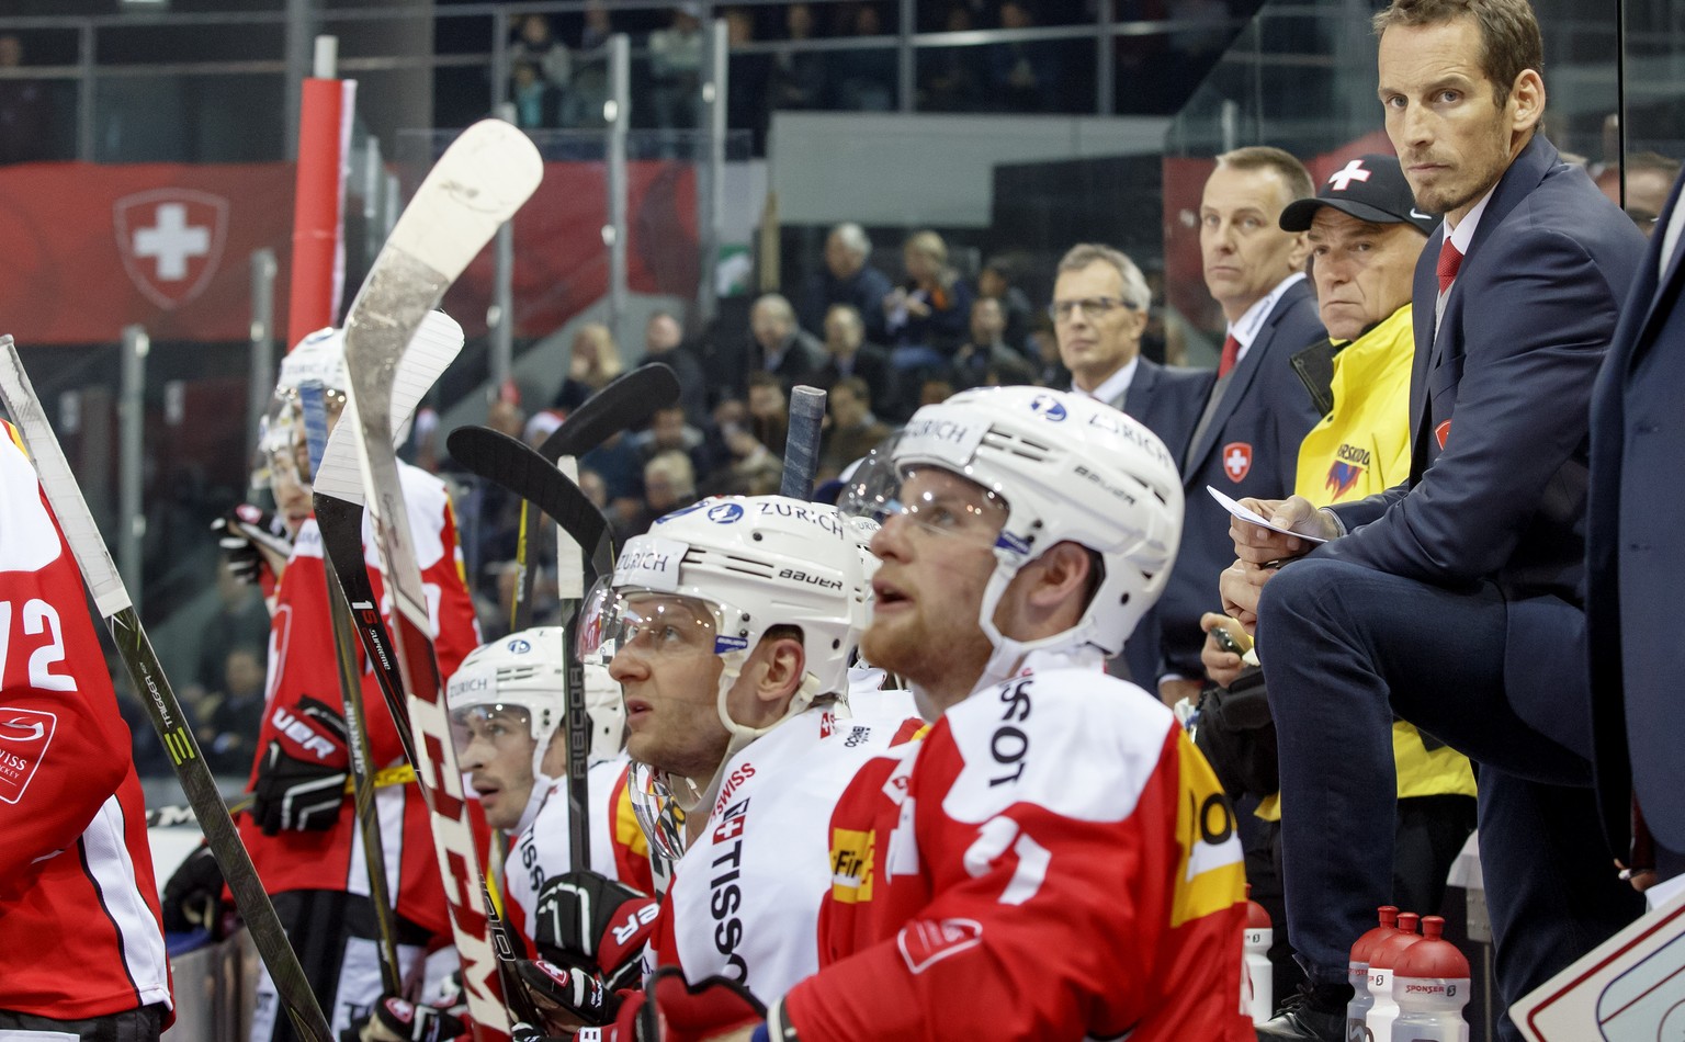
{"type": "Polygon", "coordinates": [[[1252,1039],[1233,814],[1169,710],[1038,653],[917,745],[832,816],[805,1042],[1252,1039]]]}

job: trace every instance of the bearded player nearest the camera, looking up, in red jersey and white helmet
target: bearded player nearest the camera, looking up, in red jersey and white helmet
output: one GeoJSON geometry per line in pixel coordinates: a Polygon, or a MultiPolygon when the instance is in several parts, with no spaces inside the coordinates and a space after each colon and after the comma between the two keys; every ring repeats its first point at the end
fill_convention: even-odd
{"type": "MultiPolygon", "coordinates": [[[[1232,813],[1171,712],[1102,669],[1174,560],[1169,454],[1083,396],[999,388],[918,410],[891,459],[859,497],[885,514],[861,651],[940,717],[832,818],[869,853],[836,882],[864,905],[841,958],[728,1037],[1250,1039],[1232,813]]],[[[662,985],[662,1018],[718,991],[662,985]]]]}

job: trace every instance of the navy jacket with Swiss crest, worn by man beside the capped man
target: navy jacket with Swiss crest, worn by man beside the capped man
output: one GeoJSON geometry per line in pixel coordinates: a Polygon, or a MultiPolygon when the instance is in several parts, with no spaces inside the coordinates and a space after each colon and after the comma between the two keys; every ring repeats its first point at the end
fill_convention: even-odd
{"type": "Polygon", "coordinates": [[[1161,673],[1205,676],[1200,615],[1222,610],[1217,578],[1235,561],[1228,511],[1212,499],[1205,486],[1235,499],[1286,499],[1292,494],[1299,442],[1319,420],[1292,369],[1292,354],[1326,336],[1309,280],[1289,287],[1230,374],[1205,433],[1185,457],[1181,550],[1156,612],[1161,673]]]}

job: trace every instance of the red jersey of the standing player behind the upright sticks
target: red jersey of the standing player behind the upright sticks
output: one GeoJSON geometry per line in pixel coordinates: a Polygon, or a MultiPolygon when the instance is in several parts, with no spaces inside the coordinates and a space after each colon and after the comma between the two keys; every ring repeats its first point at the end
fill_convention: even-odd
{"type": "MultiPolygon", "coordinates": [[[[473,602],[462,577],[457,548],[457,524],[445,486],[416,467],[401,465],[404,501],[416,563],[421,565],[433,649],[443,678],[450,678],[462,659],[479,646],[473,602]]],[[[374,533],[364,519],[364,560],[381,612],[389,617],[374,550],[374,533]]],[[[359,659],[362,658],[359,647],[359,659]]],[[[275,615],[270,620],[270,688],[258,749],[266,749],[278,733],[276,720],[286,720],[305,696],[335,710],[344,706],[334,653],[334,627],[327,609],[327,572],[322,533],[315,518],[298,529],[293,553],[276,590],[275,615]]],[[[362,705],[369,730],[374,767],[404,762],[398,728],[386,700],[364,663],[362,705]]],[[[253,769],[253,782],[256,769],[253,769]]],[[[396,895],[398,914],[435,934],[450,932],[450,910],[433,853],[433,830],[426,801],[411,782],[381,789],[376,794],[381,819],[381,845],[386,855],[388,887],[396,895]]],[[[270,894],[286,890],[344,890],[367,894],[369,878],[350,811],[350,796],[334,828],[325,831],[283,831],[265,836],[249,816],[241,818],[241,838],[251,851],[263,887],[270,894]]]]}

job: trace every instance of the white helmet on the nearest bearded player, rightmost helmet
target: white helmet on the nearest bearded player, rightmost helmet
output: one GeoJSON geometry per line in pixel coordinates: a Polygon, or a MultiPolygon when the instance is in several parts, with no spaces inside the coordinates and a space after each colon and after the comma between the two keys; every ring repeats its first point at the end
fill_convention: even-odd
{"type": "Polygon", "coordinates": [[[1006,679],[1033,647],[1089,644],[1119,654],[1164,592],[1181,541],[1181,477],[1164,443],[1119,410],[1045,388],[960,391],[913,413],[844,489],[842,509],[895,513],[900,484],[915,467],[966,477],[1006,506],[979,619],[996,649],[986,681],[1006,679]],[[1099,553],[1105,565],[1082,619],[1035,642],[1003,637],[994,609],[1006,585],[1024,563],[1067,540],[1099,553]]]}

